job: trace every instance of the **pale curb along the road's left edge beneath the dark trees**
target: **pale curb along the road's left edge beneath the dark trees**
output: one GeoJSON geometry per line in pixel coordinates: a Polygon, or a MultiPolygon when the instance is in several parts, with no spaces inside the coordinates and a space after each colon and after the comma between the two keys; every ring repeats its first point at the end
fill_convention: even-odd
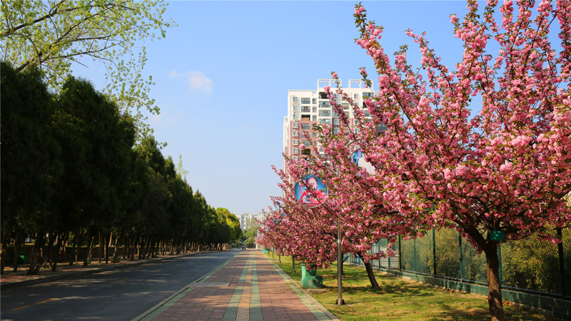
{"type": "Polygon", "coordinates": [[[176,258],[184,258],[186,256],[197,255],[197,254],[201,254],[201,253],[210,253],[210,252],[212,252],[212,251],[193,252],[193,253],[187,253],[187,254],[182,254],[182,255],[177,255],[177,256],[156,258],[156,259],[153,259],[152,261],[146,261],[145,260],[145,261],[136,262],[136,263],[127,263],[127,264],[113,265],[113,266],[107,266],[107,267],[95,267],[91,270],[77,271],[77,272],[63,272],[59,275],[50,275],[47,277],[39,277],[37,279],[32,279],[32,280],[7,282],[6,284],[0,284],[0,291],[14,290],[14,289],[17,289],[19,287],[27,287],[29,285],[54,282],[54,281],[69,279],[71,277],[95,274],[95,273],[99,273],[99,272],[121,270],[121,269],[126,268],[126,267],[138,266],[138,265],[143,265],[143,264],[148,264],[148,263],[158,263],[158,262],[162,262],[165,260],[173,260],[176,258]]]}

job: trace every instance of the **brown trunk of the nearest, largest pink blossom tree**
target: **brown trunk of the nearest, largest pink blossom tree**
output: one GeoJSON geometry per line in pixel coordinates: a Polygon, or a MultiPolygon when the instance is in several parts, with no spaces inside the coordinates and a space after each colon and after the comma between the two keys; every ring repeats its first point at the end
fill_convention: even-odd
{"type": "Polygon", "coordinates": [[[500,260],[497,259],[497,242],[490,242],[484,249],[487,265],[487,305],[490,307],[492,321],[504,321],[502,304],[502,285],[500,284],[500,260]]]}

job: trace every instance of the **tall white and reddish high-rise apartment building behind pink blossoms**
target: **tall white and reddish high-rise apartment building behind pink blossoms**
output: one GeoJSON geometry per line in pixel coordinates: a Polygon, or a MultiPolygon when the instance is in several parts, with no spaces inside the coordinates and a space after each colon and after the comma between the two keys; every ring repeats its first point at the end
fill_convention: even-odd
{"type": "MultiPolygon", "coordinates": [[[[313,141],[313,146],[317,147],[320,153],[323,152],[318,143],[318,133],[313,131],[314,124],[333,123],[335,133],[342,130],[343,125],[340,124],[339,115],[331,107],[329,98],[323,89],[325,86],[330,86],[331,91],[335,91],[333,79],[318,79],[316,90],[288,91],[288,116],[283,118],[283,153],[286,156],[291,156],[293,159],[300,158],[302,151],[299,146],[302,143],[307,148],[312,147],[310,141],[303,136],[303,132],[307,132],[313,141]]],[[[343,92],[353,98],[354,103],[360,107],[363,107],[363,98],[375,95],[375,92],[371,88],[366,88],[365,83],[360,79],[350,79],[348,86],[343,88],[343,92]]],[[[353,116],[353,108],[348,102],[342,101],[340,95],[335,93],[334,98],[343,106],[343,111],[350,121],[350,130],[358,133],[359,128],[355,126],[358,120],[353,116]]],[[[365,116],[369,116],[366,109],[365,116]]],[[[313,148],[310,149],[310,153],[313,153],[313,148]]]]}

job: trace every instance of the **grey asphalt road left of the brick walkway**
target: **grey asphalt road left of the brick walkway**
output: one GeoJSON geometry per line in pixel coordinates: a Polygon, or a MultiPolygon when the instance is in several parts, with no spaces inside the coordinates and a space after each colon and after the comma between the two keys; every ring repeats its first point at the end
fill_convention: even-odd
{"type": "Polygon", "coordinates": [[[131,320],[238,253],[204,253],[2,291],[1,320],[131,320]]]}

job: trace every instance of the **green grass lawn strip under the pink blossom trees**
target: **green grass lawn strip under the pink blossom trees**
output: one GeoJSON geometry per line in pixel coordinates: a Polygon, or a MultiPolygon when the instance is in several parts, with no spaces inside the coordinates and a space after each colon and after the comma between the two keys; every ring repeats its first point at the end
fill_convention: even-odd
{"type": "MultiPolygon", "coordinates": [[[[271,253],[269,258],[271,258],[271,253]]],[[[293,280],[300,282],[300,265],[291,273],[291,258],[278,255],[277,263],[293,280]]],[[[390,277],[375,271],[381,289],[373,290],[364,267],[345,264],[343,267],[343,300],[347,305],[335,305],[337,300],[337,264],[327,270],[318,269],[323,276],[326,292],[311,293],[339,320],[490,320],[487,299],[483,295],[450,292],[420,282],[390,277]]],[[[506,320],[560,320],[525,307],[504,302],[506,320]]]]}

